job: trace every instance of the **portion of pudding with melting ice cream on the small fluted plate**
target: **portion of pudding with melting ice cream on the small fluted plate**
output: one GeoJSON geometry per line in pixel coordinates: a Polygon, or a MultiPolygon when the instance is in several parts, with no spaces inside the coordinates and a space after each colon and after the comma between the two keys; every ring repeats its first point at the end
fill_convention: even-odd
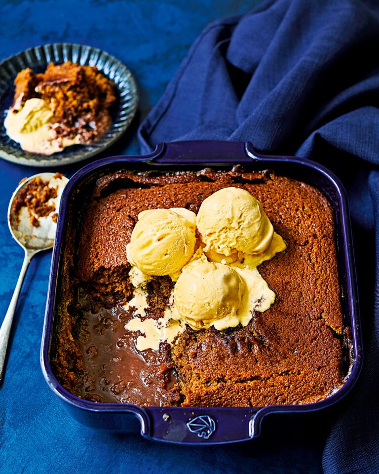
{"type": "Polygon", "coordinates": [[[110,127],[115,85],[94,66],[49,63],[42,74],[26,68],[14,85],[4,126],[25,152],[52,155],[90,145],[110,127]]]}

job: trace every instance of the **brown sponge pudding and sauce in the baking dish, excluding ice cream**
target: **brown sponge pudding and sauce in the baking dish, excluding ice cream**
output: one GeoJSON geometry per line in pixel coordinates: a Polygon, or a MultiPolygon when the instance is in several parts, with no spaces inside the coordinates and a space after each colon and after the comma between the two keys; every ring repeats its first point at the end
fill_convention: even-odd
{"type": "MultiPolygon", "coordinates": [[[[318,190],[273,172],[114,172],[99,178],[71,222],[58,296],[53,370],[87,400],[167,406],[262,407],[321,400],[341,386],[343,333],[333,210],[318,190]],[[259,265],[276,294],[246,326],[188,324],[175,340],[137,349],[141,332],[126,245],[147,209],[197,213],[218,190],[256,197],[286,250],[259,265]]],[[[146,283],[142,321],[158,320],[174,282],[146,283]]],[[[140,295],[141,296],[141,295],[140,295]]]]}

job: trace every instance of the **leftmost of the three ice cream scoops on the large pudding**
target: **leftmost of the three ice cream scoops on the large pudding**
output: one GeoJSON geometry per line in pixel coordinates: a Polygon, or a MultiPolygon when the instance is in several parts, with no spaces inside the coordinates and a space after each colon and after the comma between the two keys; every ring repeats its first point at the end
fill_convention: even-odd
{"type": "Polygon", "coordinates": [[[195,249],[195,214],[188,209],[149,209],[138,216],[128,262],[150,276],[179,276],[195,249]]]}

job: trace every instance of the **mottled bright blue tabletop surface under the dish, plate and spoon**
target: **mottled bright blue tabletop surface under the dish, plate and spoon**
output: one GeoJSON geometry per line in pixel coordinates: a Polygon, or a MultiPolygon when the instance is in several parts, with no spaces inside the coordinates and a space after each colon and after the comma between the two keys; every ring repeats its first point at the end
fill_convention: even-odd
{"type": "MultiPolygon", "coordinates": [[[[49,42],[89,44],[113,54],[134,73],[141,102],[130,131],[108,155],[138,154],[136,129],[163,93],[190,44],[210,21],[241,13],[258,0],[8,1],[0,58],[49,42]],[[217,5],[217,6],[216,6],[217,5]]],[[[59,169],[70,176],[78,167],[59,169]]],[[[23,251],[10,237],[8,200],[18,182],[38,172],[0,160],[0,321],[21,269],[23,251]]],[[[325,433],[262,435],[250,443],[185,448],[111,435],[77,424],[45,383],[39,346],[50,253],[29,268],[17,308],[0,386],[0,472],[5,473],[319,473],[325,433]]]]}

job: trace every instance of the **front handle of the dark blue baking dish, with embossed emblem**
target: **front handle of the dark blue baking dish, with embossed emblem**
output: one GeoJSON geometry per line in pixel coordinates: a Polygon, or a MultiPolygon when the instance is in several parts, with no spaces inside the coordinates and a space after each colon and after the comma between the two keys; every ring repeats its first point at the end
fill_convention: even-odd
{"type": "Polygon", "coordinates": [[[246,441],[254,433],[258,409],[146,407],[149,424],[142,435],[158,441],[180,444],[224,444],[246,441]]]}

